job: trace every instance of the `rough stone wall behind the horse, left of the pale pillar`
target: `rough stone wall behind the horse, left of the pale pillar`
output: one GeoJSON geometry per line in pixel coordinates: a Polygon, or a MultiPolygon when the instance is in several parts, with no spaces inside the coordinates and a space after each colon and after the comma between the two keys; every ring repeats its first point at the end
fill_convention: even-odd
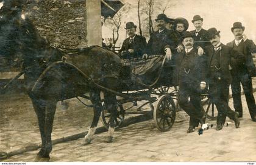
{"type": "Polygon", "coordinates": [[[76,48],[87,46],[85,10],[85,0],[34,0],[27,16],[52,45],[76,48]]]}

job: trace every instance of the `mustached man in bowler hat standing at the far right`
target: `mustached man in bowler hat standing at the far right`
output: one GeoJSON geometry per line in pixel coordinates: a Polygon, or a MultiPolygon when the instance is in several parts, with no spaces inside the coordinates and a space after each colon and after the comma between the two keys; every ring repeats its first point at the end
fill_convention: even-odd
{"type": "Polygon", "coordinates": [[[256,74],[252,53],[256,53],[256,45],[252,40],[247,39],[246,35],[243,34],[244,26],[242,26],[242,23],[233,23],[231,31],[235,36],[235,40],[227,43],[227,46],[233,47],[233,49],[236,51],[241,52],[246,59],[244,65],[237,66],[232,69],[233,81],[231,83],[231,88],[233,105],[235,111],[239,113],[239,117],[243,117],[240,86],[240,83],[242,83],[249,113],[251,114],[252,121],[256,122],[256,105],[252,90],[252,77],[254,77],[256,74]]]}

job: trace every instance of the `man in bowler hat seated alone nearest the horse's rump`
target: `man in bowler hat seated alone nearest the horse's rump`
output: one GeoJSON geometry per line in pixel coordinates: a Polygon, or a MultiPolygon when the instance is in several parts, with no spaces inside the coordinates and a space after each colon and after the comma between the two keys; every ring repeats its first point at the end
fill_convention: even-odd
{"type": "Polygon", "coordinates": [[[126,27],[124,29],[126,29],[129,38],[126,38],[126,40],[124,40],[123,45],[120,49],[121,58],[131,59],[142,57],[143,50],[145,49],[147,44],[146,38],[137,35],[136,28],[137,26],[134,23],[126,23],[126,27]]]}

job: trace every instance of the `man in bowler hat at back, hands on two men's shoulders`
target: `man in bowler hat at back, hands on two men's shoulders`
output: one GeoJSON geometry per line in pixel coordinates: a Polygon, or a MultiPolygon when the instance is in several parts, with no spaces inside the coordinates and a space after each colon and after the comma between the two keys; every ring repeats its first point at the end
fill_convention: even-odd
{"type": "Polygon", "coordinates": [[[192,30],[194,38],[194,47],[196,47],[199,52],[204,53],[205,46],[210,45],[210,41],[207,40],[206,33],[207,30],[202,29],[204,18],[201,18],[200,15],[195,15],[193,17],[192,23],[194,24],[195,30],[192,30]]]}

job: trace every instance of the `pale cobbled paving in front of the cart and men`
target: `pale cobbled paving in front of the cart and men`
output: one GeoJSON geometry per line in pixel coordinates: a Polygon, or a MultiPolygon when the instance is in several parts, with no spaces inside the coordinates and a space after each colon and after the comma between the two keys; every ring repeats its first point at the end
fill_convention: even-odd
{"type": "MultiPolygon", "coordinates": [[[[232,103],[230,99],[231,107],[232,103]]],[[[172,129],[165,133],[155,128],[153,120],[121,128],[115,132],[112,144],[104,142],[107,133],[95,135],[88,146],[82,146],[82,138],[57,144],[51,161],[256,161],[256,122],[251,121],[247,106],[237,129],[232,123],[221,131],[216,131],[214,125],[203,135],[187,134],[186,119],[187,114],[180,111],[172,129]]],[[[5,161],[34,161],[37,152],[26,152],[5,161]]]]}

